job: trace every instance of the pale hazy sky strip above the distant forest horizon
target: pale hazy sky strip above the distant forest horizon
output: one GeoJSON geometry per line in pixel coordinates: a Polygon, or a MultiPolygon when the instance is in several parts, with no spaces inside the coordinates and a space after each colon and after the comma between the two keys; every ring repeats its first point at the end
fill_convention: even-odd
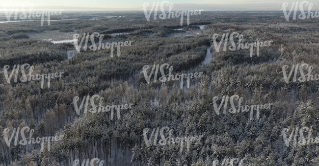
{"type": "MultiPolygon", "coordinates": [[[[65,10],[140,10],[143,3],[161,2],[163,0],[1,0],[4,5],[32,5],[33,9],[65,10]]],[[[209,10],[275,10],[279,11],[284,2],[298,0],[167,0],[174,3],[174,10],[203,9],[209,10]]],[[[301,2],[303,0],[299,0],[301,2]]],[[[319,9],[319,0],[308,0],[313,3],[313,10],[319,9]]],[[[9,8],[9,7],[7,7],[9,8]]],[[[304,7],[307,9],[308,7],[304,7]]]]}

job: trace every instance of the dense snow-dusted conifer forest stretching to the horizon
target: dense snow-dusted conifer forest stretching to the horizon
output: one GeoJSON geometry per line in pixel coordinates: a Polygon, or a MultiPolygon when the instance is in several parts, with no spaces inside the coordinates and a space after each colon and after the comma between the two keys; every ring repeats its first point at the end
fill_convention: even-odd
{"type": "MultiPolygon", "coordinates": [[[[66,12],[52,19],[56,21],[50,26],[40,21],[0,23],[0,166],[73,166],[75,160],[81,165],[93,158],[106,166],[227,166],[234,158],[241,166],[319,165],[318,144],[292,141],[286,146],[282,133],[289,128],[289,137],[292,128],[309,127],[313,138],[318,135],[319,82],[287,83],[283,76],[284,65],[289,73],[301,63],[319,74],[318,18],[287,22],[282,12],[204,11],[183,26],[180,19],[148,22],[142,12],[66,12]],[[58,21],[62,19],[70,20],[58,21]],[[44,35],[51,32],[70,36],[68,40],[75,33],[81,38],[98,32],[104,34],[104,42],[134,42],[121,47],[120,56],[101,49],[68,58],[75,50],[73,43],[53,43],[44,35]],[[253,57],[248,49],[215,51],[212,35],[232,32],[244,36],[242,43],[273,42],[253,57]],[[210,53],[213,58],[206,63],[210,53]],[[4,66],[20,78],[22,73],[12,72],[13,66],[26,63],[34,66],[34,73],[64,73],[51,79],[50,87],[41,88],[41,81],[14,82],[15,75],[9,84],[4,66]],[[174,67],[172,74],[204,75],[183,89],[179,81],[148,84],[143,66],[165,63],[174,67]],[[120,119],[111,119],[107,112],[78,115],[74,97],[87,95],[103,97],[106,105],[133,106],[121,110],[120,119]],[[225,95],[242,96],[245,105],[273,105],[261,110],[258,119],[255,113],[252,119],[249,113],[217,115],[214,97],[224,110],[225,95]],[[50,150],[46,142],[41,151],[41,144],[14,145],[15,139],[23,140],[14,135],[8,147],[2,131],[10,129],[11,136],[14,128],[25,126],[34,129],[34,138],[63,138],[51,142],[50,150]],[[150,129],[150,137],[154,128],[164,126],[173,129],[175,137],[203,137],[182,150],[180,144],[155,145],[153,139],[147,146],[143,130],[150,129]]],[[[221,45],[220,50],[229,46],[221,45]]],[[[99,105],[99,100],[94,103],[99,105]]],[[[160,140],[160,134],[155,137],[160,140]]]]}

